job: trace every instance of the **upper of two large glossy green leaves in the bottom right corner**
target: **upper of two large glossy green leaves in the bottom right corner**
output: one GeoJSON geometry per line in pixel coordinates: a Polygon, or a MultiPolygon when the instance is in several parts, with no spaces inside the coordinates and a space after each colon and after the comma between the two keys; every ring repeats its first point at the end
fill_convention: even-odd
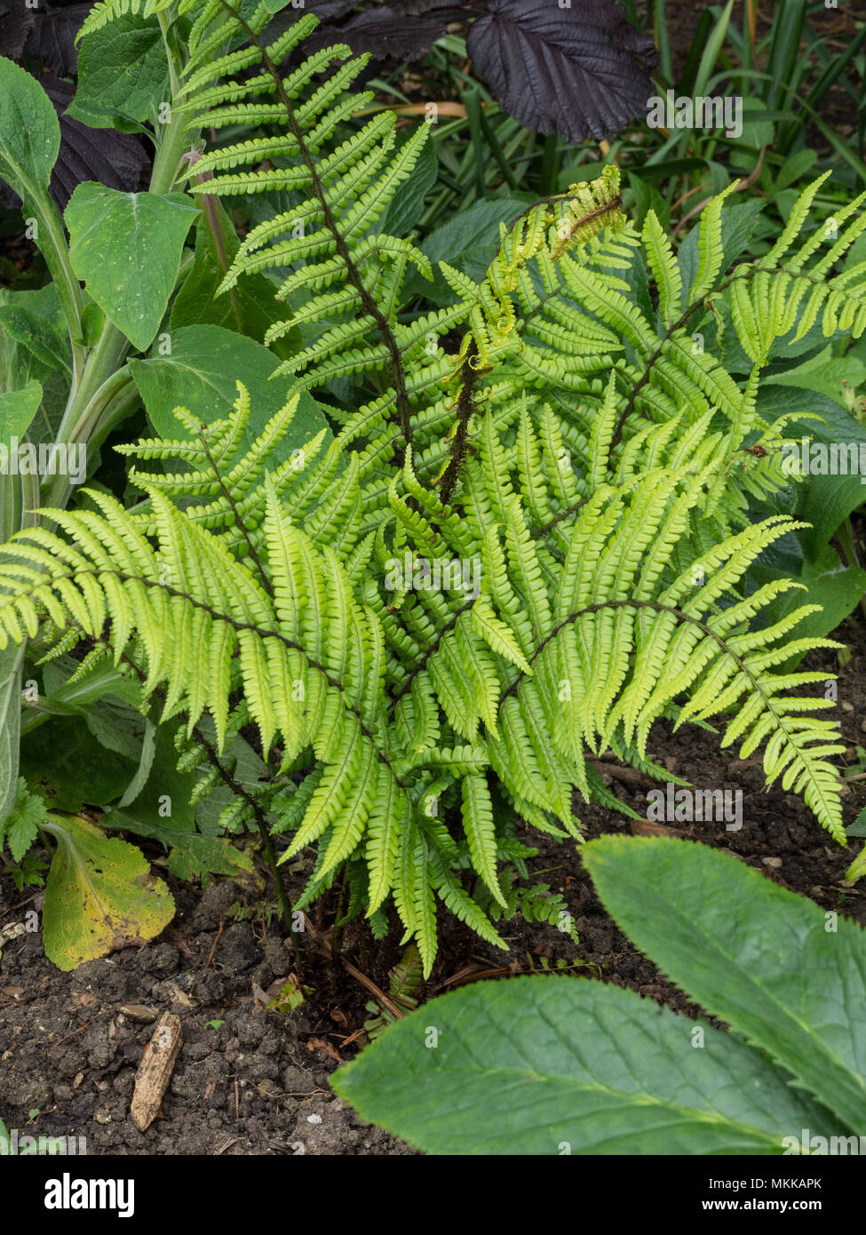
{"type": "Polygon", "coordinates": [[[582,852],[605,909],[663,973],[866,1128],[860,926],[704,845],[602,836],[582,852]]]}

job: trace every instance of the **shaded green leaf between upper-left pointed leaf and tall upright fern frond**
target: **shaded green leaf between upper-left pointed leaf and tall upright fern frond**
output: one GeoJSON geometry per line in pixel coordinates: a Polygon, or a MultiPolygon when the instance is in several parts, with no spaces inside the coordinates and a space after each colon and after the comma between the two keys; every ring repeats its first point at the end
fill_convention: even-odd
{"type": "MultiPolygon", "coordinates": [[[[172,305],[172,331],[184,326],[222,326],[262,343],[268,327],[285,316],[285,306],[275,300],[277,289],[263,274],[247,274],[231,291],[214,299],[241,246],[219,198],[204,195],[199,204],[195,261],[172,305]]],[[[300,331],[290,331],[271,350],[288,359],[299,343],[300,331]]]]}

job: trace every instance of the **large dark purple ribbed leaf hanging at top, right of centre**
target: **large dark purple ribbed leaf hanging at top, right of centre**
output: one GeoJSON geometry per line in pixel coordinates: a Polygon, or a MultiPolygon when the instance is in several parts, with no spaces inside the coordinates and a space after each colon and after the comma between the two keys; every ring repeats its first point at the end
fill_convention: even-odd
{"type": "Polygon", "coordinates": [[[467,49],[500,106],[568,142],[618,132],[652,94],[657,54],[613,0],[488,0],[467,49]]]}

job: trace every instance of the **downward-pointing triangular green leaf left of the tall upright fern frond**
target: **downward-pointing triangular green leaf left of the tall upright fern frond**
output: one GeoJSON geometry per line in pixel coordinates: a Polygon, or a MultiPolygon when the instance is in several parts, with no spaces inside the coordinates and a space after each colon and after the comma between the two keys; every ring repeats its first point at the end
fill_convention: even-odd
{"type": "Polygon", "coordinates": [[[65,209],[75,274],[140,351],[159,329],[198,212],[183,193],[119,193],[93,182],[79,184],[65,209]]]}

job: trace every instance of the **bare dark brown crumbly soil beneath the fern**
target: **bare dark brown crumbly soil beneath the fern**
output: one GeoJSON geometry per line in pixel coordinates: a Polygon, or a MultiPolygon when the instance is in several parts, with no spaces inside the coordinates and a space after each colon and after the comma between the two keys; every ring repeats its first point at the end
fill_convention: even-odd
{"type": "MultiPolygon", "coordinates": [[[[841,729],[852,763],[856,746],[866,745],[864,626],[851,619],[838,637],[852,651],[838,683],[841,729]]],[[[831,662],[823,667],[829,672],[831,662]]],[[[660,729],[651,753],[697,788],[742,790],[739,831],[696,823],[678,825],[678,835],[735,853],[824,909],[866,920],[862,892],[843,883],[861,842],[839,848],[798,798],[780,789],[766,792],[756,760],[740,762],[720,751],[712,734],[697,729],[675,736],[660,729]]],[[[621,781],[626,773],[615,764],[604,767],[619,795],[645,813],[652,782],[621,781]]],[[[846,787],[846,823],[864,800],[864,782],[846,787]]],[[[584,806],[581,816],[587,837],[646,826],[598,806],[584,806]]],[[[151,857],[159,863],[156,851],[151,857]]],[[[694,1015],[682,992],[607,915],[581,866],[579,851],[541,837],[540,853],[529,865],[542,882],[565,894],[579,934],[577,946],[553,926],[528,926],[518,918],[503,932],[509,944],[505,953],[461,924],[440,920],[440,955],[422,997],[565,958],[578,981],[614,982],[694,1015]]],[[[172,882],[164,869],[161,873],[172,882]]],[[[294,868],[289,892],[296,894],[304,878],[305,872],[294,868]]],[[[46,960],[38,932],[6,945],[0,960],[0,1119],[30,1135],[84,1136],[86,1152],[96,1155],[413,1152],[364,1125],[329,1088],[338,1061],[351,1058],[363,1044],[371,990],[356,974],[387,990],[388,971],[400,957],[397,935],[374,944],[362,926],[353,926],[341,941],[341,955],[332,958],[329,926],[336,902],[320,905],[303,936],[308,1000],[284,1015],[266,1010],[263,1002],[268,988],[273,995],[278,979],[296,969],[290,948],[261,914],[235,921],[229,913],[238,902],[254,905],[261,893],[227,881],[204,893],[173,883],[173,892],[178,914],[158,940],[91,961],[74,973],[61,973],[46,960]],[[143,1005],[149,1013],[125,1013],[122,1008],[130,1005],[143,1005]],[[163,1100],[164,1118],[140,1132],[130,1119],[130,1098],[153,1024],[133,1018],[156,1018],[162,1011],[180,1016],[184,1044],[163,1100]],[[33,1112],[40,1114],[32,1116],[33,1112]]],[[[38,899],[27,902],[11,881],[0,879],[0,925],[23,921],[35,906],[38,899]]]]}

